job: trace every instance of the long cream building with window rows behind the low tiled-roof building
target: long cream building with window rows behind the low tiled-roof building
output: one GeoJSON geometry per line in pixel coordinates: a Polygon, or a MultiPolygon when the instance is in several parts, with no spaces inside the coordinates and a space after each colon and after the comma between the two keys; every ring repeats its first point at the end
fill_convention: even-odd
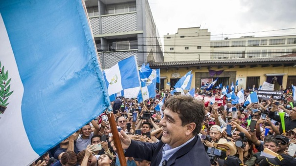
{"type": "Polygon", "coordinates": [[[211,41],[210,32],[200,27],[179,28],[174,35],[164,35],[165,62],[269,58],[292,53],[296,53],[296,35],[211,41]]]}

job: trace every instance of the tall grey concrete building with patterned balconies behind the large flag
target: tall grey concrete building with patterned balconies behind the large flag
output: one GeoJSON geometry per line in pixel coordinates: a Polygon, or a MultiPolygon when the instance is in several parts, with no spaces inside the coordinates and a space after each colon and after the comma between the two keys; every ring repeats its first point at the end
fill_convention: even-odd
{"type": "Polygon", "coordinates": [[[148,0],[85,0],[102,68],[135,55],[163,62],[161,42],[148,0]]]}

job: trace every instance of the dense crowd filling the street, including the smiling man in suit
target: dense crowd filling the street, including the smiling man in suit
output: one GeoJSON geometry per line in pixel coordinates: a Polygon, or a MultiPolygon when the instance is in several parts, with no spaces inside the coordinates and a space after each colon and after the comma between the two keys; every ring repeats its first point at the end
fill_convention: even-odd
{"type": "MultiPolygon", "coordinates": [[[[247,90],[245,98],[253,91],[247,90]]],[[[248,105],[231,104],[219,89],[196,88],[195,94],[219,98],[225,104],[205,106],[203,100],[169,90],[142,103],[123,97],[112,102],[127,166],[296,164],[296,107],[291,89],[284,90],[279,100],[248,105]],[[156,110],[163,99],[161,110],[156,110]]],[[[108,115],[101,114],[37,161],[32,166],[120,166],[108,115]]]]}

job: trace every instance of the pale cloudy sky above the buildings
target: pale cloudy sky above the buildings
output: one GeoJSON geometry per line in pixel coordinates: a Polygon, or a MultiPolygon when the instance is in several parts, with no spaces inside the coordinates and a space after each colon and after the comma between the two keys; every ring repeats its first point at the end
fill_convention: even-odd
{"type": "Polygon", "coordinates": [[[148,1],[161,39],[167,33],[177,33],[178,28],[197,26],[208,29],[211,40],[296,35],[296,0],[148,1]],[[272,31],[288,28],[294,29],[272,31]]]}

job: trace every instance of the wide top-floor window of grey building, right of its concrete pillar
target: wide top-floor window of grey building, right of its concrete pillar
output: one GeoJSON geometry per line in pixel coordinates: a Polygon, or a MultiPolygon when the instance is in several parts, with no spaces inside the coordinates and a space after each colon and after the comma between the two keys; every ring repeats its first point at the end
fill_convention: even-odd
{"type": "Polygon", "coordinates": [[[106,6],[106,14],[127,13],[137,11],[136,2],[119,3],[106,6]]]}

